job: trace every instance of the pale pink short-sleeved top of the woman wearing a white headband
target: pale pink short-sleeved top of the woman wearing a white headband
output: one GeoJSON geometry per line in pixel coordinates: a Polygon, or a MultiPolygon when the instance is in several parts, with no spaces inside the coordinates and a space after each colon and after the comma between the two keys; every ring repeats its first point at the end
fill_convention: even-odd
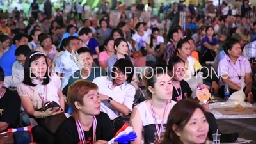
{"type": "Polygon", "coordinates": [[[20,97],[29,97],[34,109],[42,107],[42,102],[56,102],[60,104],[58,97],[58,88],[61,86],[60,77],[57,74],[51,74],[50,82],[47,85],[40,84],[40,81],[33,79],[35,87],[20,83],[17,86],[17,92],[20,97]]]}

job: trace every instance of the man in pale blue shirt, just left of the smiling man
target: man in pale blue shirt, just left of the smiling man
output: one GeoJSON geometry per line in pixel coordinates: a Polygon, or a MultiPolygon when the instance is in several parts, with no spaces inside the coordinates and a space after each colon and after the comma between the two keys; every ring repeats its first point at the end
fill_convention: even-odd
{"type": "Polygon", "coordinates": [[[80,69],[77,60],[76,51],[79,49],[79,40],[75,36],[70,36],[66,41],[66,51],[56,58],[55,72],[61,77],[61,87],[65,88],[68,84],[68,79],[74,72],[80,69]]]}

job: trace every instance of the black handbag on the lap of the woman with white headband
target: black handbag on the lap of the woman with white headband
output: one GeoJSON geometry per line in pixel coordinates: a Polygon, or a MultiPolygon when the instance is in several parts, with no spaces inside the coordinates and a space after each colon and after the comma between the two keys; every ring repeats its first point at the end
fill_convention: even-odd
{"type": "MultiPolygon", "coordinates": [[[[42,108],[38,109],[38,111],[46,111],[46,109],[49,109],[49,108],[60,108],[60,105],[54,101],[46,102],[42,108]]],[[[54,134],[58,129],[58,127],[60,126],[60,124],[66,119],[67,117],[63,112],[58,115],[48,116],[46,118],[40,118],[38,124],[42,125],[45,129],[51,131],[54,134]]]]}

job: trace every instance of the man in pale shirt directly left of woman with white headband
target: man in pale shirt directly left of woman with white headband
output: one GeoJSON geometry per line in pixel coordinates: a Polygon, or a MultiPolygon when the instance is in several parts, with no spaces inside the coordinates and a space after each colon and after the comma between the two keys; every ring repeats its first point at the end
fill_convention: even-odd
{"type": "Polygon", "coordinates": [[[6,88],[16,88],[24,79],[24,63],[26,57],[31,52],[28,45],[20,45],[15,50],[17,61],[12,65],[12,76],[4,77],[4,86],[6,88]]]}

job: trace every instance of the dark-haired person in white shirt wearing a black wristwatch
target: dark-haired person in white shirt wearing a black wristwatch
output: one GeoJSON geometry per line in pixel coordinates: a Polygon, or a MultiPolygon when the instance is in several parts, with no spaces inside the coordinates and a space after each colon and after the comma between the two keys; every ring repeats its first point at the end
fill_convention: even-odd
{"type": "Polygon", "coordinates": [[[136,90],[129,84],[134,74],[130,60],[120,58],[111,71],[110,77],[97,77],[93,79],[93,83],[99,88],[100,111],[107,113],[113,120],[120,115],[129,115],[136,90]]]}

